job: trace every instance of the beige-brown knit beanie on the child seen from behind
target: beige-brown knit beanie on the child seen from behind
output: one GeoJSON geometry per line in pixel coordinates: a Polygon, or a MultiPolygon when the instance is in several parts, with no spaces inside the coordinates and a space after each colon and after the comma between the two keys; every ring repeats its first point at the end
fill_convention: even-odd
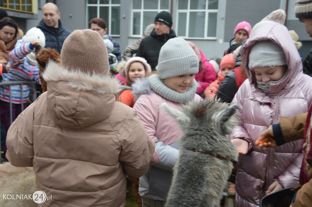
{"type": "Polygon", "coordinates": [[[69,70],[108,75],[109,62],[105,43],[96,31],[73,31],[64,41],[61,62],[69,70]]]}

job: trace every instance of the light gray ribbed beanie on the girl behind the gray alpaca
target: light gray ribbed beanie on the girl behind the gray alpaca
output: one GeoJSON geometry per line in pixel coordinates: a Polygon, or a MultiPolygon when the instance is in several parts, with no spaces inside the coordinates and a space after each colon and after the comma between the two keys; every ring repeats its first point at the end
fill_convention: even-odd
{"type": "Polygon", "coordinates": [[[168,40],[160,49],[156,70],[161,79],[198,73],[198,56],[180,37],[168,40]]]}

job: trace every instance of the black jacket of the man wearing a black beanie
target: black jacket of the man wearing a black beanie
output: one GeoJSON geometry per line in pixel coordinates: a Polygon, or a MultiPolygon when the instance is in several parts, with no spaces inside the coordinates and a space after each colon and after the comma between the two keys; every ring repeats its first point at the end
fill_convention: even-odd
{"type": "Polygon", "coordinates": [[[150,36],[145,37],[136,53],[136,56],[143,57],[152,70],[155,70],[158,64],[158,57],[160,48],[171,38],[177,37],[173,29],[170,33],[157,35],[155,29],[151,32],[150,36]]]}

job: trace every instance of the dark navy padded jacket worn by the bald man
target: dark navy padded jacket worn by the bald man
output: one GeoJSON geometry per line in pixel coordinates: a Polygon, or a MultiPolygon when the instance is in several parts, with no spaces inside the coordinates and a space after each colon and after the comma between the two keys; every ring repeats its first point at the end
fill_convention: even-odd
{"type": "Polygon", "coordinates": [[[39,22],[37,28],[41,29],[43,34],[46,37],[46,46],[51,49],[55,49],[58,53],[61,54],[63,43],[68,35],[71,34],[71,31],[66,30],[59,20],[59,27],[50,27],[43,22],[43,19],[39,22]]]}

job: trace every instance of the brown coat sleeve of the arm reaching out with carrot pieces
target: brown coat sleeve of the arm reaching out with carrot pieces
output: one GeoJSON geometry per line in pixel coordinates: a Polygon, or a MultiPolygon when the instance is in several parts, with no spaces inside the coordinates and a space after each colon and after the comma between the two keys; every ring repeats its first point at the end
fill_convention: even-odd
{"type": "Polygon", "coordinates": [[[308,113],[302,113],[292,118],[280,117],[280,129],[285,142],[303,139],[307,115],[308,113]]]}

